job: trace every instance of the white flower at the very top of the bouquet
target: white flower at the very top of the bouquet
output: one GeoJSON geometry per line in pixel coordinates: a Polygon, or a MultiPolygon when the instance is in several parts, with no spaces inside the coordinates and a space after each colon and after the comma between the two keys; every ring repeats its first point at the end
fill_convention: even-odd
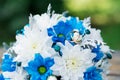
{"type": "Polygon", "coordinates": [[[31,26],[37,26],[40,30],[45,30],[49,27],[56,25],[60,20],[65,21],[66,18],[62,14],[50,13],[51,7],[48,6],[47,13],[41,15],[32,15],[29,17],[29,24],[31,26]]]}

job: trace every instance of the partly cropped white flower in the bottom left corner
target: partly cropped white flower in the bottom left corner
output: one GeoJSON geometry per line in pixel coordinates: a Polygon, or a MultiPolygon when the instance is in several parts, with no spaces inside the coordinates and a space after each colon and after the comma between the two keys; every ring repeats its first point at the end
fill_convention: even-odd
{"type": "Polygon", "coordinates": [[[22,69],[18,68],[14,72],[3,72],[3,76],[10,80],[27,80],[27,73],[22,69]]]}

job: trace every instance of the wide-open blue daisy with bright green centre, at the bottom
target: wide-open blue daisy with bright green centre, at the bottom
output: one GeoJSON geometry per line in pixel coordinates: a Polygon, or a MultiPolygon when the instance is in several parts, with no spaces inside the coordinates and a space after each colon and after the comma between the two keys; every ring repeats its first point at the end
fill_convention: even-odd
{"type": "Polygon", "coordinates": [[[52,75],[54,60],[50,57],[43,58],[39,53],[35,54],[34,60],[28,63],[25,70],[30,74],[30,80],[47,80],[47,77],[52,75]]]}

